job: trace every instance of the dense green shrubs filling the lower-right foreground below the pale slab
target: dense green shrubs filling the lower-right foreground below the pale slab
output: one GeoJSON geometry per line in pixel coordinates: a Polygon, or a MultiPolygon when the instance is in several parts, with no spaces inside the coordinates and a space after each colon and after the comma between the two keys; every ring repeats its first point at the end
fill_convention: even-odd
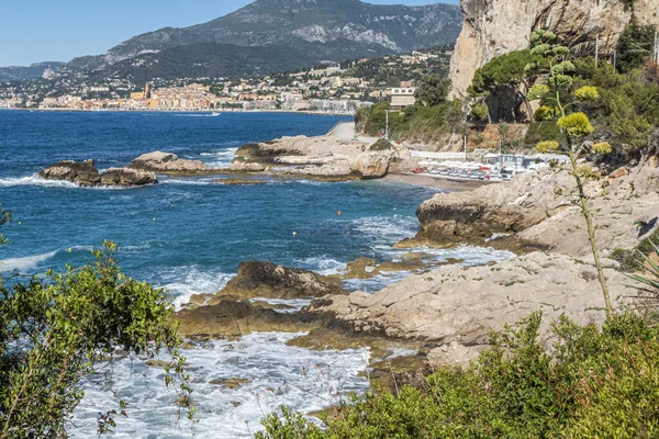
{"type": "Polygon", "coordinates": [[[633,438],[659,432],[659,328],[632,312],[601,329],[566,317],[547,351],[541,314],[493,335],[467,369],[444,368],[424,390],[354,397],[326,430],[288,410],[264,421],[266,438],[633,438]],[[281,432],[286,431],[286,435],[281,432]]]}

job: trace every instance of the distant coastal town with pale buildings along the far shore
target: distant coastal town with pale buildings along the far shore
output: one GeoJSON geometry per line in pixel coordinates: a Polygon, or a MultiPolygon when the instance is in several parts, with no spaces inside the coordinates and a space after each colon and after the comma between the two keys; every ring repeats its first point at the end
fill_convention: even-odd
{"type": "Polygon", "coordinates": [[[326,63],[253,78],[90,81],[66,67],[40,80],[0,82],[0,109],[77,111],[300,111],[355,114],[376,102],[413,104],[414,80],[446,72],[453,46],[406,55],[326,63]]]}

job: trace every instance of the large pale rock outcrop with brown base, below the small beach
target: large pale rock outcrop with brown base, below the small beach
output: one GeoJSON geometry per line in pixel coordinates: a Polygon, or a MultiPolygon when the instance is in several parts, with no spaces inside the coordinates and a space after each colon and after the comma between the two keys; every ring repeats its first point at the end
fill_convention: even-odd
{"type": "MultiPolygon", "coordinates": [[[[659,225],[659,176],[649,166],[585,184],[604,256],[632,248],[659,225]],[[639,228],[638,224],[651,227],[639,228]]],[[[573,257],[591,252],[584,218],[574,203],[574,179],[567,169],[527,172],[513,181],[470,192],[439,193],[416,215],[416,237],[398,247],[494,246],[517,252],[550,250],[573,257]],[[510,235],[510,236],[502,236],[510,235]]]]}

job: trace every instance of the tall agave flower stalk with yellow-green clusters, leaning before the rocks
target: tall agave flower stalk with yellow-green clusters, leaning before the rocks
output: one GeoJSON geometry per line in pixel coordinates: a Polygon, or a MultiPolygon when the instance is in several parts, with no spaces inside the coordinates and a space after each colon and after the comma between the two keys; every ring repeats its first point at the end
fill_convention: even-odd
{"type": "Polygon", "coordinates": [[[585,219],[588,238],[591,245],[595,268],[608,318],[613,316],[613,305],[611,295],[604,277],[602,261],[595,240],[595,226],[593,217],[588,206],[588,196],[583,189],[585,181],[595,179],[599,176],[592,171],[588,165],[580,166],[578,158],[587,153],[608,154],[612,148],[607,143],[596,143],[587,148],[580,139],[593,133],[594,128],[585,113],[572,112],[578,102],[597,101],[600,93],[595,87],[584,86],[572,91],[572,74],[576,70],[574,64],[569,59],[570,49],[565,46],[556,45],[556,35],[547,31],[536,31],[532,38],[532,53],[544,58],[543,63],[530,63],[525,68],[528,75],[536,77],[544,76],[545,83],[534,86],[528,92],[528,100],[541,100],[543,105],[536,112],[536,119],[554,120],[558,117],[557,125],[561,132],[561,142],[549,140],[540,142],[537,145],[539,153],[548,150],[562,150],[570,158],[571,173],[577,183],[577,194],[581,213],[585,219]]]}

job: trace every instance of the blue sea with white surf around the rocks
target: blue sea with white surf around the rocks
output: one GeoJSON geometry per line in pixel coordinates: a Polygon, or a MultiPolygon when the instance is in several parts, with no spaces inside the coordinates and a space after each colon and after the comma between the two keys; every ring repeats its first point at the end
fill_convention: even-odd
{"type": "MultiPolygon", "coordinates": [[[[138,189],[85,189],[36,177],[59,160],[94,159],[103,170],[154,150],[224,167],[244,144],[322,135],[349,120],[293,113],[0,111],[0,203],[14,219],[2,229],[11,243],[0,247],[0,273],[41,275],[67,263],[81,266],[91,260],[92,248],[111,239],[120,245],[123,271],[165,288],[180,308],[192,294],[219,291],[241,261],[332,274],[359,257],[400,260],[409,250],[391,246],[414,236],[415,211],[437,189],[382,180],[222,185],[211,176],[159,177],[159,184],[138,189]]],[[[414,251],[465,264],[511,257],[477,247],[414,251]]],[[[376,292],[407,274],[345,286],[376,292]]],[[[287,346],[297,336],[259,333],[186,349],[198,403],[193,425],[177,418],[176,394],[164,387],[160,370],[136,358],[121,360],[112,371],[112,390],[130,403],[129,417],[115,418],[111,437],[249,438],[282,405],[311,413],[368,390],[359,373],[367,369],[368,349],[319,352],[287,346]],[[228,378],[250,383],[233,390],[210,383],[228,378]]],[[[103,380],[86,383],[68,426],[74,438],[96,435],[98,414],[116,407],[112,392],[94,381],[103,380]]]]}

